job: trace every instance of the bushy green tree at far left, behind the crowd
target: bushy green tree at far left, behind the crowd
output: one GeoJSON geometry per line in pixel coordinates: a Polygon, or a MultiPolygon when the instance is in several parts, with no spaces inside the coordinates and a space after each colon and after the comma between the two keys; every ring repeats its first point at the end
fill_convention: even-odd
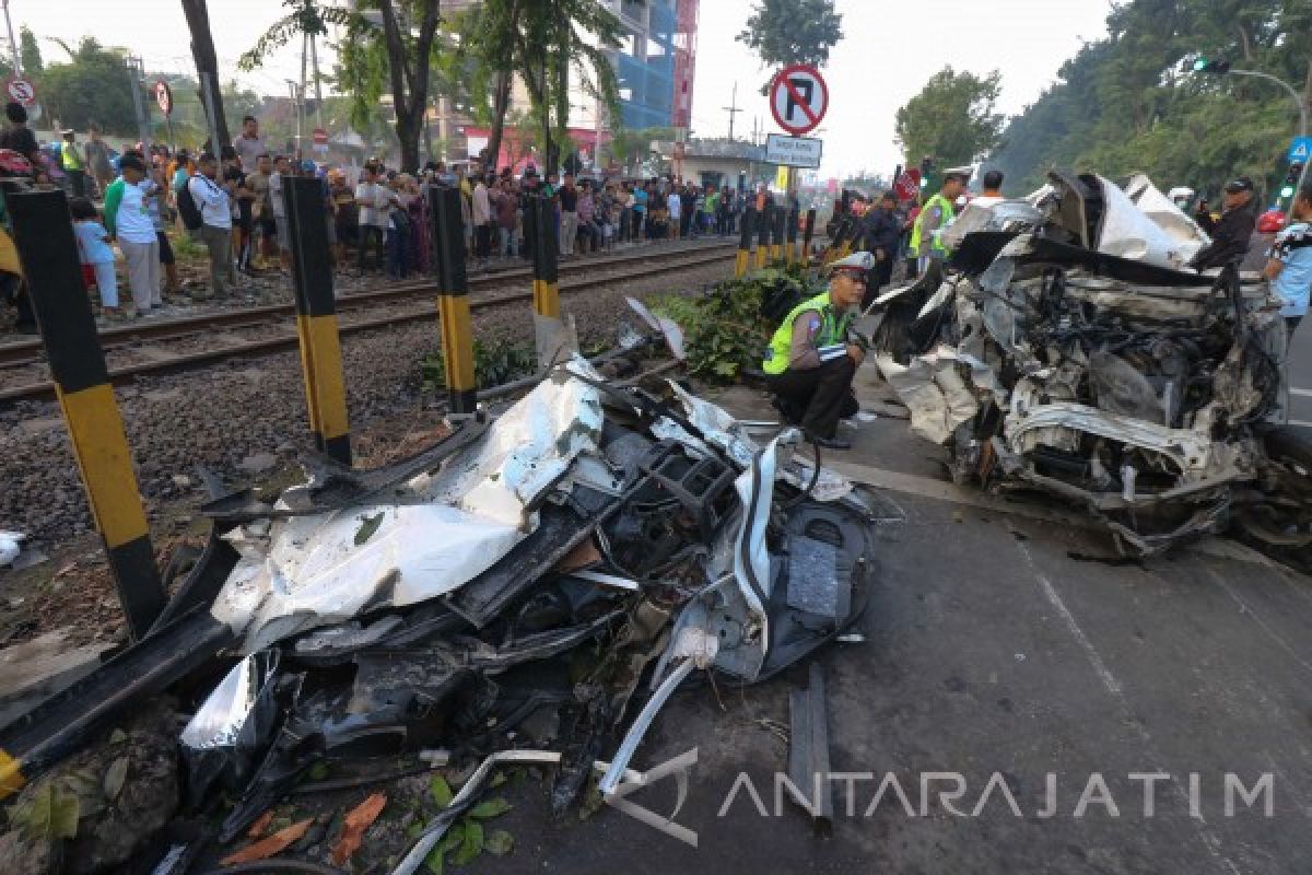
{"type": "Polygon", "coordinates": [[[97,123],[110,134],[136,134],[133,88],[122,50],[84,37],[67,64],[50,64],[41,75],[42,101],[66,127],[97,123]]]}

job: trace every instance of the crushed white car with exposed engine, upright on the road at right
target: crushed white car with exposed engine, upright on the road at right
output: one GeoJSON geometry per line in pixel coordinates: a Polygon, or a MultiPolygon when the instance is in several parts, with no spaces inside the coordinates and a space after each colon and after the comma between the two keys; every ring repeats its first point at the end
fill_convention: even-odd
{"type": "Polygon", "coordinates": [[[1312,441],[1281,428],[1287,329],[1144,177],[1051,176],[968,209],[946,270],[887,293],[872,331],[912,429],[953,476],[1088,508],[1134,554],[1237,526],[1307,560],[1312,441]]]}

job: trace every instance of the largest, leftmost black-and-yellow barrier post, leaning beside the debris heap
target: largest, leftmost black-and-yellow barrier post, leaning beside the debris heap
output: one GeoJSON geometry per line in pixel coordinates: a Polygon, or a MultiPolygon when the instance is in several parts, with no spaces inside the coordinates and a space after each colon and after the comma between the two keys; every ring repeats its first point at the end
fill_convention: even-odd
{"type": "MultiPolygon", "coordinates": [[[[139,640],[164,610],[168,596],[155,565],[123,418],[83,285],[68,201],[63,192],[31,192],[7,194],[7,205],[87,502],[105,542],[127,627],[139,640]]],[[[0,777],[4,771],[0,754],[0,777]]]]}

